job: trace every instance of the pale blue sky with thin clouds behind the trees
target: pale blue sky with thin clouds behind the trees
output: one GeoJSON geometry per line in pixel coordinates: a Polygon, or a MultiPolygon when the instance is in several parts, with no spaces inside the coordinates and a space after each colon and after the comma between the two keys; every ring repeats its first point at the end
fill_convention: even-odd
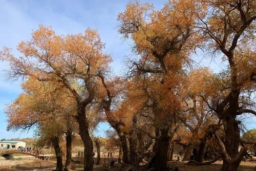
{"type": "MultiPolygon", "coordinates": [[[[157,9],[163,7],[167,0],[149,1],[154,3],[157,9]]],[[[81,33],[88,27],[97,29],[105,45],[105,52],[113,57],[113,70],[120,74],[123,68],[122,57],[131,54],[131,43],[123,41],[117,31],[117,14],[124,11],[129,1],[33,1],[33,0],[1,0],[0,5],[0,48],[7,46],[17,54],[16,46],[22,40],[29,40],[32,30],[38,25],[51,25],[57,34],[81,33]]],[[[141,1],[144,2],[144,1],[141,1]]],[[[195,56],[198,61],[201,56],[195,56]]],[[[214,71],[219,71],[225,66],[220,61],[210,62],[210,58],[204,59],[202,64],[211,66],[214,71]]],[[[20,81],[7,80],[3,70],[8,69],[7,63],[0,63],[0,139],[31,137],[33,133],[7,132],[5,104],[14,100],[21,92],[20,81]]],[[[255,121],[255,120],[254,120],[255,121]]],[[[256,123],[255,122],[252,123],[256,123]]],[[[250,125],[250,124],[248,124],[250,125]]],[[[249,126],[253,127],[253,126],[249,126]]],[[[99,127],[99,135],[109,125],[103,123],[99,127]]]]}

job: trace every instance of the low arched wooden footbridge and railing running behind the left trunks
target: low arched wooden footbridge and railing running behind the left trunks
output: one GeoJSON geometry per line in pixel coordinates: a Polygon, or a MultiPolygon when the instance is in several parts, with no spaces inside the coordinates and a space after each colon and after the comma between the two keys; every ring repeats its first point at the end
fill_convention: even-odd
{"type": "MultiPolygon", "coordinates": [[[[41,160],[55,159],[55,156],[45,156],[45,155],[41,155],[38,153],[33,153],[33,152],[28,152],[28,151],[20,151],[18,149],[12,149],[12,150],[6,150],[6,151],[0,152],[0,155],[2,155],[2,156],[9,156],[11,154],[29,155],[29,156],[33,156],[33,157],[36,157],[41,160]]],[[[93,158],[94,163],[96,163],[96,160],[97,160],[97,158],[93,158]]],[[[79,162],[83,161],[83,157],[72,157],[71,161],[79,163],[79,162]]],[[[116,159],[116,158],[100,158],[100,163],[110,163],[112,161],[116,162],[116,161],[118,161],[118,159],[116,159]]]]}

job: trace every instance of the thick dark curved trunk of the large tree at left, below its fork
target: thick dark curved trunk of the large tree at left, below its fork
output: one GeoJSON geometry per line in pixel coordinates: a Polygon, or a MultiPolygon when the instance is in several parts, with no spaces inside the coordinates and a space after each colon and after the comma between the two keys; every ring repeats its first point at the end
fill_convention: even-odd
{"type": "Polygon", "coordinates": [[[80,107],[76,119],[79,123],[79,134],[84,146],[83,169],[86,171],[93,171],[93,141],[88,130],[89,125],[86,118],[85,107],[80,107]]]}

